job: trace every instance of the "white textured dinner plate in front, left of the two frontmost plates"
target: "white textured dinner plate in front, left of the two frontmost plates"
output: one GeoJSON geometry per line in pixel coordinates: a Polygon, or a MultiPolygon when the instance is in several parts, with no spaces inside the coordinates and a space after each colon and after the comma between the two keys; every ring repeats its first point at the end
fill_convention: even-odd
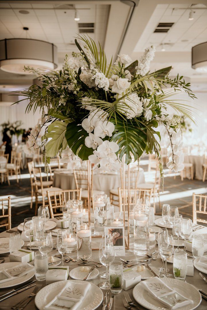
{"type": "MultiPolygon", "coordinates": [[[[51,302],[51,300],[63,289],[66,281],[58,281],[51,283],[40,290],[35,297],[35,305],[39,310],[43,310],[44,307],[51,302]]],[[[75,283],[86,283],[81,280],[69,280],[75,283]]],[[[183,282],[183,281],[182,281],[183,282]]],[[[86,297],[83,299],[78,310],[95,310],[102,303],[103,292],[95,284],[90,283],[90,289],[87,291],[86,297]]]]}

